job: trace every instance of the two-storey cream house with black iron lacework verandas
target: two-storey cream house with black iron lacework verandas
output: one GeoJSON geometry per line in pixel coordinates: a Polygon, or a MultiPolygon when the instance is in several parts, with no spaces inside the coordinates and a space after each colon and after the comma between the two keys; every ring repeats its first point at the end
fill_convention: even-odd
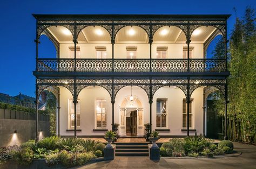
{"type": "Polygon", "coordinates": [[[59,136],[103,137],[114,123],[122,137],[144,136],[146,123],[161,137],[206,133],[207,95],[227,104],[227,57],[206,50],[218,34],[227,50],[230,15],[33,16],[36,100],[56,95],[59,136]],[[56,58],[38,55],[42,34],[56,58]]]}

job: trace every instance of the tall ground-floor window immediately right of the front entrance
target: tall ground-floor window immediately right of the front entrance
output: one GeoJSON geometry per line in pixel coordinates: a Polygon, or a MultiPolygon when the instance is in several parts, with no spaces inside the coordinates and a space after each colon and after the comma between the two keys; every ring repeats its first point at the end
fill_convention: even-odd
{"type": "Polygon", "coordinates": [[[166,127],[166,101],[167,99],[157,98],[157,128],[166,127]]]}

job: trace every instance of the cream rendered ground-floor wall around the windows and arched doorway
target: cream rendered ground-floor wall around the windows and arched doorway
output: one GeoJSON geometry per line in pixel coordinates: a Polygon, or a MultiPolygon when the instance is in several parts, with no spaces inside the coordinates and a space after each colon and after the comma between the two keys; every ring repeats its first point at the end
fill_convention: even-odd
{"type": "MultiPolygon", "coordinates": [[[[114,123],[120,124],[120,104],[124,97],[131,94],[131,87],[127,86],[120,89],[116,96],[114,104],[114,123]]],[[[145,91],[139,87],[133,86],[133,95],[138,97],[143,105],[143,124],[149,123],[149,99],[145,91]]],[[[107,129],[111,130],[112,126],[112,104],[109,93],[102,87],[89,87],[83,89],[78,99],[80,100],[80,129],[77,132],[79,136],[102,136],[104,132],[93,131],[95,129],[95,100],[97,98],[105,98],[107,101],[107,129]]],[[[157,98],[167,98],[167,128],[170,132],[160,132],[165,136],[185,136],[186,132],[181,132],[182,127],[182,102],[185,95],[177,87],[162,87],[156,91],[152,103],[152,130],[156,129],[156,100],[157,98]]],[[[197,133],[203,133],[203,87],[194,90],[191,98],[192,102],[192,129],[196,129],[197,133]]],[[[60,135],[72,136],[73,132],[66,131],[69,129],[68,119],[68,101],[72,99],[70,91],[64,87],[60,87],[60,135]]],[[[119,126],[119,135],[125,135],[125,129],[119,126]]],[[[138,135],[143,136],[145,133],[144,126],[138,126],[138,135]]],[[[194,132],[190,132],[191,135],[194,132]]]]}

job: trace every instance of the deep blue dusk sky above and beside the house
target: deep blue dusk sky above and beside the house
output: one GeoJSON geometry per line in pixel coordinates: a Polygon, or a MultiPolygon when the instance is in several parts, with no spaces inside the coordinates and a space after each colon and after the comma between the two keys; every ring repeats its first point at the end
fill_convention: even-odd
{"type": "MultiPolygon", "coordinates": [[[[36,20],[32,13],[42,14],[231,14],[228,36],[237,17],[246,6],[256,9],[254,0],[214,1],[0,1],[0,93],[11,96],[19,92],[35,97],[36,20]]],[[[44,40],[41,39],[43,44],[44,40]]],[[[214,44],[207,51],[211,54],[214,44]]],[[[39,46],[39,58],[54,58],[53,45],[39,46]]]]}

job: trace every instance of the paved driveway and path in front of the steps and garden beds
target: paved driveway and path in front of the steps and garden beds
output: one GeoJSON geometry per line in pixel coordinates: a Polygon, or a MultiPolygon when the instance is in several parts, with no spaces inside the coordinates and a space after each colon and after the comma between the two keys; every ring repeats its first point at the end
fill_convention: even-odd
{"type": "Polygon", "coordinates": [[[256,146],[234,143],[238,157],[161,159],[152,161],[148,157],[116,157],[77,168],[256,168],[256,146]]]}

